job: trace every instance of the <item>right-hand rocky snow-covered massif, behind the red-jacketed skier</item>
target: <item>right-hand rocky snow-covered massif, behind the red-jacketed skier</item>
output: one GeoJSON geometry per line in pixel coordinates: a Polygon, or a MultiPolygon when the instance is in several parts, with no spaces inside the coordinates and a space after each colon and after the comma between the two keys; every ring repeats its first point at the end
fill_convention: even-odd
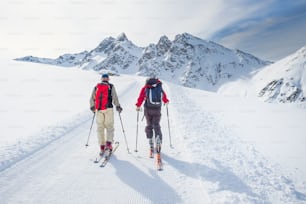
{"type": "Polygon", "coordinates": [[[216,91],[270,62],[240,50],[183,33],[170,41],[166,36],[157,45],[145,48],[139,60],[141,75],[156,75],[187,87],[216,91]]]}

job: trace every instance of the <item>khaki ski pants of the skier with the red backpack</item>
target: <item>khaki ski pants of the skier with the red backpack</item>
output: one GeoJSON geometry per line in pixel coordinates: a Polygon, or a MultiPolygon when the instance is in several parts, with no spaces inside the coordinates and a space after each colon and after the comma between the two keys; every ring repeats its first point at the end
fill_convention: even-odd
{"type": "Polygon", "coordinates": [[[99,110],[96,112],[97,134],[100,145],[105,145],[106,141],[113,142],[114,139],[114,111],[112,108],[99,110]],[[106,141],[105,141],[106,130],[106,141]]]}

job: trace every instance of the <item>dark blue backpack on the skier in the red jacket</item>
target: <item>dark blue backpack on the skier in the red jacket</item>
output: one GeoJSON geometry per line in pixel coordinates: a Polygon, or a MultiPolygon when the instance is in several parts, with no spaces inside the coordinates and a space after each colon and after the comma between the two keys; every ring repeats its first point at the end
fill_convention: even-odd
{"type": "Polygon", "coordinates": [[[149,79],[147,84],[151,87],[146,88],[146,107],[160,108],[162,106],[162,83],[157,79],[149,79]]]}

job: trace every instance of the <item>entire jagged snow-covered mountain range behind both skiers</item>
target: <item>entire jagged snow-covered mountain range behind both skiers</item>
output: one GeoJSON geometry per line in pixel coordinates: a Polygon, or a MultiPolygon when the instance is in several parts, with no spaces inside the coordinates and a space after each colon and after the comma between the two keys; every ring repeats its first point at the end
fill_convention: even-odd
{"type": "Polygon", "coordinates": [[[157,44],[145,48],[134,45],[122,33],[117,38],[104,39],[89,52],[63,56],[54,60],[36,57],[17,60],[60,66],[78,65],[82,69],[96,71],[107,69],[118,73],[154,75],[187,87],[211,91],[217,90],[225,82],[271,64],[188,33],[176,35],[173,41],[162,36],[157,44]],[[67,56],[67,59],[63,56],[67,56]]]}

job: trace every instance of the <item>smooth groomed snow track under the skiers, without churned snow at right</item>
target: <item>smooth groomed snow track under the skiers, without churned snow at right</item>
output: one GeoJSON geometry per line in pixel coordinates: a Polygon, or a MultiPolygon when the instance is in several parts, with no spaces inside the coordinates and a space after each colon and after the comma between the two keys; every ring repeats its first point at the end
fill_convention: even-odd
{"type": "MultiPolygon", "coordinates": [[[[143,78],[138,81],[132,78],[122,83],[126,86],[116,86],[124,108],[122,120],[131,154],[126,151],[115,113],[115,139],[120,141],[119,149],[105,168],[94,164],[98,153],[96,126],[94,124],[90,146],[85,148],[91,123],[91,116],[86,116],[87,122],[0,172],[1,203],[184,203],[191,198],[195,203],[201,203],[203,198],[207,200],[205,192],[190,189],[200,186],[199,181],[180,173],[168,165],[166,159],[165,170],[156,170],[155,160],[148,158],[144,121],[139,122],[139,152],[134,152],[134,104],[143,83],[143,78]]],[[[166,118],[163,118],[162,126],[166,127],[166,124],[166,118]]],[[[168,147],[166,129],[163,131],[163,156],[171,158],[176,150],[168,147]]]]}

